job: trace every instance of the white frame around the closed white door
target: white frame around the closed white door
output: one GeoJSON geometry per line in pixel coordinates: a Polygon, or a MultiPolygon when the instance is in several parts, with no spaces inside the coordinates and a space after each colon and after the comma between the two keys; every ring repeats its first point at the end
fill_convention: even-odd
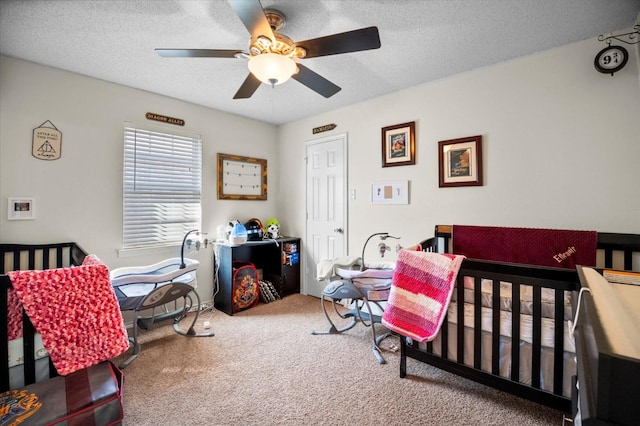
{"type": "MultiPolygon", "coordinates": [[[[342,164],[342,173],[343,173],[343,177],[344,179],[342,179],[343,181],[343,203],[342,203],[342,214],[344,216],[344,226],[343,226],[343,232],[344,232],[344,240],[343,240],[343,249],[344,249],[344,254],[347,255],[349,253],[349,155],[348,155],[348,134],[347,132],[343,132],[343,133],[338,133],[335,135],[331,135],[331,136],[323,136],[321,138],[317,138],[317,139],[308,139],[304,142],[304,159],[305,159],[305,167],[304,167],[304,208],[305,208],[305,218],[304,218],[304,239],[305,241],[309,241],[308,238],[308,228],[307,228],[307,224],[308,224],[308,216],[309,216],[309,212],[307,211],[307,206],[308,206],[308,195],[307,194],[307,181],[309,179],[308,175],[307,175],[307,167],[308,167],[308,161],[309,161],[309,157],[307,155],[309,147],[311,145],[318,145],[318,144],[322,144],[322,143],[326,143],[332,140],[336,140],[336,139],[341,139],[341,143],[342,143],[342,158],[344,159],[343,164],[342,164]]],[[[307,277],[308,277],[308,273],[307,273],[307,268],[308,265],[304,265],[304,270],[303,270],[303,280],[302,280],[302,287],[301,289],[304,289],[304,294],[308,294],[307,293],[307,277]]]]}

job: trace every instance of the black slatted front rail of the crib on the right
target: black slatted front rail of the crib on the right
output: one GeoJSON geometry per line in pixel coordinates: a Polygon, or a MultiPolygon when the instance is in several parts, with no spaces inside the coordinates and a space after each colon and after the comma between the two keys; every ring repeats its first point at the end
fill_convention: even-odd
{"type": "MultiPolygon", "coordinates": [[[[406,377],[406,358],[414,358],[419,361],[431,364],[454,374],[469,378],[478,383],[491,386],[522,398],[526,398],[563,412],[571,411],[570,396],[563,396],[564,377],[564,296],[565,292],[574,291],[578,284],[576,271],[557,268],[544,268],[537,266],[527,266],[509,264],[503,262],[489,262],[481,260],[465,259],[462,263],[457,279],[457,311],[456,311],[456,351],[449,354],[449,318],[445,318],[444,325],[440,329],[439,354],[434,351],[434,344],[427,343],[426,348],[420,347],[416,342],[407,342],[401,339],[401,361],[400,377],[406,377]],[[464,278],[472,277],[474,280],[474,304],[481,306],[481,286],[482,279],[492,280],[493,285],[493,309],[492,309],[492,329],[500,328],[500,282],[512,283],[512,298],[514,301],[520,300],[521,288],[523,286],[533,287],[533,343],[531,383],[521,382],[520,374],[520,304],[512,305],[512,337],[511,337],[511,375],[503,377],[499,374],[499,352],[500,333],[491,334],[491,371],[481,369],[482,352],[482,325],[481,310],[474,310],[473,327],[473,365],[464,363],[464,278]],[[549,392],[542,388],[540,383],[541,359],[542,359],[542,312],[541,294],[543,288],[552,289],[555,293],[554,302],[554,349],[553,349],[553,391],[549,392]]],[[[570,372],[575,374],[575,372],[570,372]]]]}

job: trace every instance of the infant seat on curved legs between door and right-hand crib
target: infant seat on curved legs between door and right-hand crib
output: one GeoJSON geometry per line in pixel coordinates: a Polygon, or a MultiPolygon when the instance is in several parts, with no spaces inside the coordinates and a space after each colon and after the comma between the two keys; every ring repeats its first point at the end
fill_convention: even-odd
{"type": "Polygon", "coordinates": [[[335,272],[338,279],[327,284],[320,298],[322,311],[331,326],[327,331],[312,331],[311,334],[339,334],[350,330],[358,322],[361,322],[364,326],[371,327],[373,354],[380,364],[384,364],[385,360],[380,353],[378,345],[389,336],[389,333],[378,336],[375,324],[379,324],[382,319],[384,308],[380,302],[386,301],[389,296],[394,271],[390,266],[365,269],[364,271],[337,267],[335,272]],[[352,306],[352,309],[345,313],[341,313],[336,305],[336,302],[341,302],[343,299],[350,300],[350,306],[352,306]],[[333,310],[338,317],[342,319],[351,318],[347,325],[338,328],[331,320],[325,303],[328,300],[331,301],[333,310]],[[379,313],[374,313],[372,304],[379,313]]]}

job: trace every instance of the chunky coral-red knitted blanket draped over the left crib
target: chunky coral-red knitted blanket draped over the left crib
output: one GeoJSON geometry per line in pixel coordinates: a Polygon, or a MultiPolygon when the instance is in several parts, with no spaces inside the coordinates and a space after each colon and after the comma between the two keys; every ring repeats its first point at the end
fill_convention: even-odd
{"type": "MultiPolygon", "coordinates": [[[[82,266],[8,272],[51,361],[61,375],[120,355],[129,348],[127,330],[111,287],[109,270],[93,256],[82,266]]],[[[19,313],[19,312],[18,312],[19,313]]],[[[20,314],[10,318],[18,337],[20,314]]]]}

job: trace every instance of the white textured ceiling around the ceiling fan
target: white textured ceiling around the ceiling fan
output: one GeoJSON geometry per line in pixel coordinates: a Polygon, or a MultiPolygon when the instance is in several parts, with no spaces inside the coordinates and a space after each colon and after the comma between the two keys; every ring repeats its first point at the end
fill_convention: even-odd
{"type": "MultiPolygon", "coordinates": [[[[233,96],[245,59],[161,58],[154,48],[247,50],[224,0],[1,0],[0,53],[283,124],[634,25],[640,0],[262,0],[307,40],[375,25],[382,47],[302,60],[342,90],[297,81],[233,96]]],[[[604,46],[603,46],[604,47],[604,46]]],[[[594,55],[595,55],[594,51],[594,55]]],[[[169,112],[167,112],[169,113],[169,112]]]]}

